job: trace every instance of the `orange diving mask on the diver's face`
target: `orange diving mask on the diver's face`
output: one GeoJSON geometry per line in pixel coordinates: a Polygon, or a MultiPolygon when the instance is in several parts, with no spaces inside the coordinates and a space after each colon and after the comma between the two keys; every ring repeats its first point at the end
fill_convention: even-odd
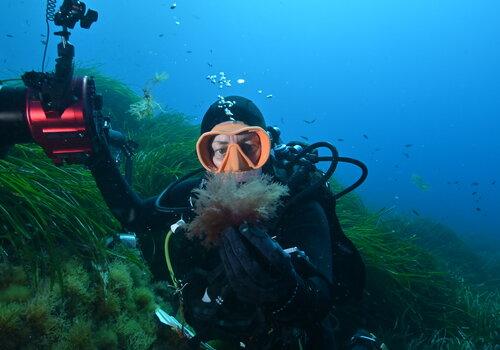
{"type": "Polygon", "coordinates": [[[214,173],[259,169],[270,152],[271,140],[264,129],[235,121],[217,124],[196,143],[201,165],[214,173]]]}

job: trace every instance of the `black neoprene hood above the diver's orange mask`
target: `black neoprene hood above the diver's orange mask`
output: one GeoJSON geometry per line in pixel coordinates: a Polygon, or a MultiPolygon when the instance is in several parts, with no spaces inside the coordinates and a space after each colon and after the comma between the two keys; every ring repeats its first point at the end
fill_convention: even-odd
{"type": "Polygon", "coordinates": [[[224,99],[226,101],[235,102],[234,105],[229,107],[232,115],[228,115],[226,113],[224,106],[221,106],[219,100],[215,101],[210,105],[207,112],[203,116],[200,134],[212,130],[212,128],[219,123],[230,120],[241,121],[249,126],[260,126],[263,129],[266,128],[264,116],[255,103],[250,101],[248,98],[242,96],[227,96],[224,97],[224,99]]]}

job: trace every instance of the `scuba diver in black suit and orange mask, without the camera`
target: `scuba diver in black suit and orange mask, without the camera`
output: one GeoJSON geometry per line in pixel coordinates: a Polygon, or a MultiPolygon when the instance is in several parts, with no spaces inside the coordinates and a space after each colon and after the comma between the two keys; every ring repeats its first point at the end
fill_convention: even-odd
{"type": "Polygon", "coordinates": [[[334,198],[324,198],[331,194],[324,180],[334,167],[321,173],[306,159],[319,157],[311,147],[282,144],[277,128],[267,130],[259,109],[241,96],[216,101],[205,113],[196,151],[208,176],[233,174],[242,184],[267,175],[289,193],[271,220],[224,227],[208,215],[199,237],[186,234],[186,221],[196,217],[196,191],[206,176],[188,174],[160,195],[141,199],[130,189],[120,191],[123,181],[106,153],[95,154],[89,168],[113,214],[136,233],[154,276],[178,288],[183,316],[197,334],[193,343],[223,339],[248,349],[332,349],[329,313],[361,297],[364,264],[340,227],[334,198]],[[207,226],[216,229],[203,232],[207,226]],[[207,245],[210,235],[220,237],[207,245]]]}

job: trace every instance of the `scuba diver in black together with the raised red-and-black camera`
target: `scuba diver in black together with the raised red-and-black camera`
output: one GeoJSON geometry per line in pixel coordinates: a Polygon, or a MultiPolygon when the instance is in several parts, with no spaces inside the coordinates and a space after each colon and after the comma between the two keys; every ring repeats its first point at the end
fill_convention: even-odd
{"type": "MultiPolygon", "coordinates": [[[[68,29],[78,22],[89,28],[97,12],[64,0],[52,17],[62,26],[55,33],[61,37],[55,72],[25,73],[25,87],[0,84],[0,156],[16,143],[36,142],[55,164],[85,164],[113,215],[135,234],[119,239],[135,236],[154,277],[177,288],[179,309],[196,331],[193,348],[212,339],[248,349],[334,348],[332,309],[359,299],[365,282],[335,203],[364,181],[366,166],[339,157],[327,142],[282,143],[253,102],[229,96],[203,117],[196,147],[201,171],[143,199],[130,186],[133,142],[102,115],[93,79],[73,76],[68,29]],[[113,146],[126,155],[125,176],[113,146]],[[319,156],[321,147],[332,155],[319,156]],[[327,171],[316,168],[319,161],[330,162],[327,171]],[[334,195],[327,180],[340,161],[363,174],[334,195]],[[258,195],[232,193],[255,184],[258,195]],[[208,190],[217,186],[216,201],[208,201],[215,207],[203,207],[201,199],[214,197],[208,190]],[[261,206],[267,197],[279,200],[261,206]],[[253,208],[242,209],[243,202],[253,208]]],[[[346,346],[380,348],[363,331],[346,346]]]]}

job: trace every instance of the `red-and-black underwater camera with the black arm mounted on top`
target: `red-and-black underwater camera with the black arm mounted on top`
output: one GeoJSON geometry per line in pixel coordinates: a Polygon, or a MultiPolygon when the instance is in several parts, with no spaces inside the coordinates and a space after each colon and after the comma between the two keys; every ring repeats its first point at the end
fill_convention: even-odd
{"type": "MultiPolygon", "coordinates": [[[[50,3],[50,1],[49,1],[50,3]]],[[[52,2],[55,5],[55,1],[52,2]]],[[[109,137],[109,118],[103,117],[102,97],[90,77],[74,77],[74,46],[70,32],[80,22],[89,28],[97,12],[81,1],[65,0],[53,14],[62,30],[54,72],[26,72],[23,87],[0,84],[0,157],[16,143],[35,142],[57,165],[84,163],[109,137]],[[99,142],[101,141],[101,142],[99,142]]]]}

